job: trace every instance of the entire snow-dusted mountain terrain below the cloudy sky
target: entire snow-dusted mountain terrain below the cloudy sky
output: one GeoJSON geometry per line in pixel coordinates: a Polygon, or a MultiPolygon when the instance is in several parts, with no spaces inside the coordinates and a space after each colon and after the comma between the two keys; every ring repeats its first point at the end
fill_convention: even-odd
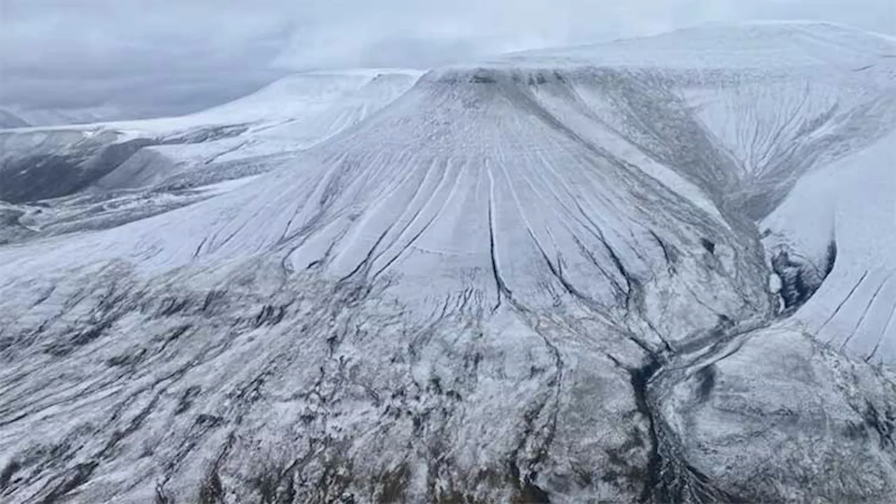
{"type": "Polygon", "coordinates": [[[305,74],[0,147],[3,500],[896,500],[892,39],[305,74]]]}

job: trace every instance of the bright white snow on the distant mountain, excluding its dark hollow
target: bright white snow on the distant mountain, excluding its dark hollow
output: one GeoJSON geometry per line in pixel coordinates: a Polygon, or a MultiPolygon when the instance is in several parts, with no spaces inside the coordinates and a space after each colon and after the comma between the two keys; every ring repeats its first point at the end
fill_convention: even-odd
{"type": "Polygon", "coordinates": [[[143,187],[211,163],[306,149],[382,109],[418,76],[418,71],[401,69],[295,74],[184,117],[13,128],[0,132],[0,159],[72,152],[85,141],[105,145],[146,138],[166,143],[145,147],[99,182],[107,189],[143,187]],[[217,126],[242,126],[245,131],[203,140],[217,126]]]}

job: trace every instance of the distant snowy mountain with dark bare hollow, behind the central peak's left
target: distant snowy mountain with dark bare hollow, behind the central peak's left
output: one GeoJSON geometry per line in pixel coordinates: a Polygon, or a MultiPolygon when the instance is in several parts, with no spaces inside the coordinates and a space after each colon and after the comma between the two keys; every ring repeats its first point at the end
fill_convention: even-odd
{"type": "Polygon", "coordinates": [[[414,71],[297,74],[184,117],[0,133],[0,199],[25,203],[91,187],[195,187],[258,174],[383,108],[414,71]],[[241,160],[252,159],[252,162],[241,160]],[[222,164],[228,166],[222,167],[222,164]]]}

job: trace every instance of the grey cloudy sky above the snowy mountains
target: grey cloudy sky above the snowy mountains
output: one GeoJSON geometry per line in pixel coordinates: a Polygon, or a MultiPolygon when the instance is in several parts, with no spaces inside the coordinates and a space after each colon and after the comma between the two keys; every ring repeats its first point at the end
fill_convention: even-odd
{"type": "Polygon", "coordinates": [[[896,33],[896,0],[0,0],[0,107],[178,113],[295,69],[427,67],[748,19],[896,33]]]}

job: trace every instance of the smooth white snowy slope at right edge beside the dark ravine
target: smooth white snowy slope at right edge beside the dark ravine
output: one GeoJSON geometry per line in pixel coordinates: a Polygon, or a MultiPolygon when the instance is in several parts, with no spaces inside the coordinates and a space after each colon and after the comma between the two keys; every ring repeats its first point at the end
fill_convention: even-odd
{"type": "Polygon", "coordinates": [[[816,264],[836,240],[831,275],[796,315],[809,335],[896,358],[896,133],[801,179],[762,226],[816,264]]]}

